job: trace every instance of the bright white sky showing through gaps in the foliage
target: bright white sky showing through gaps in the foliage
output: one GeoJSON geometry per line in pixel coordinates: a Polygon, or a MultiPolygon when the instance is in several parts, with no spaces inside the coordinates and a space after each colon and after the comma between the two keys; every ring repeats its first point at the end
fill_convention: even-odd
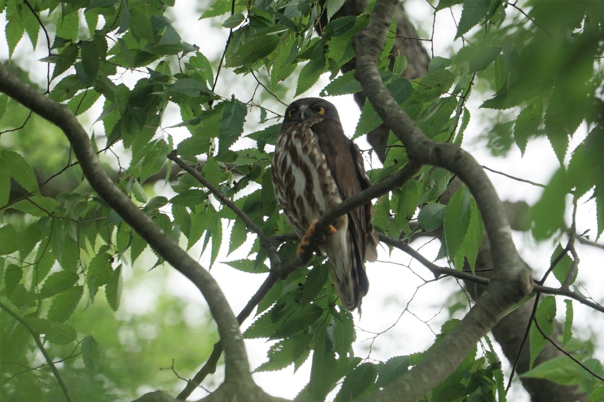
{"type": "MultiPolygon", "coordinates": [[[[228,36],[228,30],[225,28],[217,29],[216,27],[212,27],[211,21],[209,20],[197,21],[199,14],[194,9],[194,3],[195,2],[187,1],[176,2],[176,7],[172,10],[173,16],[175,16],[176,30],[181,34],[184,41],[190,42],[191,44],[197,44],[201,48],[201,52],[204,53],[208,59],[215,59],[222,54],[226,36],[228,36]]],[[[410,13],[411,18],[419,24],[420,30],[428,33],[432,30],[432,8],[429,7],[426,1],[407,0],[406,10],[410,13]]],[[[451,43],[451,33],[455,31],[455,25],[452,18],[455,18],[455,21],[458,21],[459,15],[460,8],[457,7],[454,7],[452,13],[445,10],[440,11],[437,15],[436,24],[434,25],[435,56],[448,57],[449,54],[451,54],[451,47],[460,47],[460,40],[454,44],[451,43]]],[[[2,16],[2,19],[4,19],[4,15],[2,16]]],[[[0,25],[4,25],[3,23],[4,21],[0,22],[0,25]]],[[[4,30],[2,30],[2,32],[4,32],[4,30]]],[[[5,42],[2,41],[1,45],[4,46],[4,43],[5,42]]],[[[428,44],[428,42],[425,43],[428,44]]],[[[45,41],[43,41],[43,35],[40,34],[39,45],[34,53],[31,52],[31,44],[27,38],[24,38],[24,40],[21,41],[16,51],[16,59],[22,63],[22,66],[25,68],[28,68],[28,65],[35,66],[34,68],[28,68],[28,70],[31,71],[32,79],[38,80],[39,82],[45,82],[46,67],[45,64],[36,63],[35,60],[46,56],[45,49],[46,44],[45,41]]],[[[0,59],[6,60],[7,58],[7,49],[0,48],[0,59]]],[[[320,81],[303,94],[303,96],[318,96],[321,88],[329,82],[327,77],[328,74],[321,77],[320,81]]],[[[127,83],[129,78],[126,76],[124,77],[124,80],[127,83]]],[[[58,80],[56,80],[56,82],[58,82],[58,80]]],[[[222,70],[217,85],[217,92],[225,97],[230,97],[231,93],[234,93],[237,97],[240,97],[240,99],[248,100],[249,94],[254,90],[254,87],[255,80],[253,77],[246,76],[241,78],[235,76],[231,71],[222,70]]],[[[290,91],[288,95],[289,99],[284,99],[284,102],[286,103],[291,102],[293,90],[290,91]]],[[[356,103],[353,102],[352,96],[330,97],[328,100],[338,107],[345,132],[352,134],[355,131],[356,122],[358,121],[359,116],[359,109],[356,106],[356,103]]],[[[524,158],[521,157],[520,152],[515,146],[513,146],[512,151],[509,152],[506,158],[492,157],[484,148],[484,142],[477,140],[478,136],[490,127],[488,120],[484,117],[481,119],[481,115],[484,116],[490,111],[478,111],[480,103],[481,99],[471,98],[470,102],[467,104],[467,107],[472,112],[472,120],[469,128],[466,130],[463,148],[471,152],[479,163],[489,166],[492,169],[500,170],[515,177],[525,178],[538,183],[547,183],[558,166],[556,157],[553,154],[547,139],[539,138],[538,140],[530,141],[525,153],[527,157],[524,158]]],[[[284,106],[276,102],[271,106],[274,106],[276,111],[283,112],[284,110],[284,106]]],[[[94,129],[95,132],[102,131],[102,126],[98,123],[94,127],[90,126],[90,123],[95,120],[98,114],[100,114],[101,107],[102,105],[97,102],[91,109],[88,117],[83,118],[82,122],[85,125],[85,128],[94,129]]],[[[248,126],[246,126],[244,134],[255,131],[254,125],[258,121],[258,118],[257,115],[248,114],[247,120],[248,126]]],[[[162,125],[167,127],[179,122],[181,122],[181,118],[179,117],[178,110],[175,107],[172,107],[166,112],[162,125]]],[[[169,129],[168,132],[175,137],[175,143],[178,143],[185,135],[187,135],[185,129],[169,129]]],[[[585,135],[586,127],[581,126],[571,140],[569,149],[574,149],[585,135]]],[[[361,149],[369,148],[364,138],[359,139],[357,142],[361,149]]],[[[253,143],[250,142],[246,144],[245,140],[242,140],[240,141],[240,145],[242,147],[253,146],[253,143]]],[[[501,175],[496,175],[495,173],[487,172],[487,174],[495,184],[496,190],[502,199],[510,201],[524,200],[529,204],[533,204],[541,194],[541,189],[530,186],[529,184],[519,183],[518,181],[502,177],[501,175]]],[[[161,186],[158,185],[156,190],[159,190],[162,193],[169,193],[171,191],[160,187],[161,186]]],[[[586,199],[582,201],[586,201],[586,199]]],[[[570,213],[570,210],[567,212],[570,213]]],[[[577,213],[577,221],[579,222],[579,233],[590,228],[593,229],[592,233],[595,232],[596,218],[593,202],[587,201],[580,204],[579,212],[577,213]]],[[[228,232],[229,230],[225,230],[225,233],[223,234],[225,240],[228,238],[228,232]]],[[[540,277],[545,270],[547,270],[549,265],[550,255],[553,251],[551,242],[535,244],[535,242],[532,241],[531,236],[524,233],[515,233],[514,239],[522,258],[535,268],[536,277],[540,277]]],[[[424,242],[425,241],[421,240],[417,241],[413,246],[418,248],[422,246],[424,242]]],[[[562,242],[565,244],[566,239],[562,239],[562,242]]],[[[251,243],[248,240],[241,250],[249,250],[249,245],[251,245],[251,243]]],[[[430,244],[423,245],[420,251],[428,259],[434,259],[438,249],[439,244],[437,241],[434,241],[430,244]]],[[[194,247],[190,253],[194,257],[199,257],[200,251],[200,247],[194,247]]],[[[577,282],[584,284],[591,296],[593,296],[597,302],[601,303],[604,300],[604,281],[601,280],[604,251],[580,244],[577,245],[577,251],[581,258],[577,282]]],[[[245,254],[236,252],[227,258],[226,247],[223,247],[218,261],[231,261],[245,258],[245,254]]],[[[394,251],[392,256],[389,257],[387,249],[382,249],[379,254],[379,260],[392,261],[404,265],[409,265],[411,263],[410,267],[416,274],[424,279],[431,279],[431,274],[426,268],[423,268],[416,262],[412,262],[406,254],[400,253],[399,251],[394,251]]],[[[203,254],[199,261],[202,265],[207,267],[209,264],[209,253],[203,254]]],[[[163,269],[169,270],[171,268],[165,267],[163,269]]],[[[190,316],[199,316],[199,311],[201,311],[199,309],[206,308],[205,301],[201,294],[199,294],[199,291],[178,272],[175,270],[172,270],[172,272],[173,274],[167,282],[167,287],[170,292],[190,300],[190,316]]],[[[225,264],[214,265],[211,273],[222,287],[223,292],[226,294],[226,297],[230,301],[236,314],[239,313],[245,303],[248,302],[249,297],[255,293],[255,290],[265,279],[264,274],[254,275],[242,273],[225,264]]],[[[409,311],[400,316],[405,309],[406,304],[410,301],[411,296],[416,292],[417,287],[423,283],[422,280],[420,280],[416,274],[412,273],[410,268],[385,262],[368,264],[367,273],[370,281],[370,291],[363,299],[362,319],[357,322],[357,325],[362,331],[358,331],[358,339],[354,345],[356,355],[367,357],[368,349],[372,341],[371,337],[373,337],[372,333],[382,332],[394,323],[396,323],[396,325],[393,328],[375,339],[371,348],[370,358],[387,360],[396,355],[410,354],[425,350],[433,342],[434,332],[440,332],[440,325],[449,318],[446,311],[440,313],[440,310],[448,297],[459,289],[459,285],[456,284],[455,280],[449,278],[439,280],[438,282],[420,288],[408,307],[409,311]]],[[[152,276],[153,271],[149,274],[152,276]]],[[[552,277],[548,280],[546,285],[557,287],[559,284],[557,284],[556,280],[552,277]]],[[[136,293],[124,294],[122,306],[126,311],[136,314],[137,310],[140,310],[141,305],[149,306],[149,303],[147,303],[147,299],[149,298],[152,298],[152,291],[140,289],[136,293]]],[[[558,300],[558,314],[559,318],[564,319],[564,302],[562,302],[562,298],[559,298],[558,300]]],[[[594,334],[599,341],[597,343],[603,345],[604,339],[602,333],[604,331],[602,331],[602,329],[604,328],[604,316],[602,314],[594,313],[588,308],[584,308],[577,302],[574,303],[574,314],[575,336],[578,336],[581,339],[587,339],[594,334]]],[[[355,317],[355,319],[358,319],[358,316],[355,317]]],[[[242,329],[245,329],[251,321],[251,319],[248,319],[243,323],[242,329]]],[[[252,368],[256,368],[266,361],[266,350],[270,344],[271,343],[266,343],[265,340],[246,341],[252,368]]],[[[509,374],[509,365],[507,365],[506,359],[501,353],[500,357],[503,359],[504,371],[506,374],[509,374]]],[[[596,357],[600,359],[604,358],[604,349],[602,346],[599,346],[596,349],[596,357]]],[[[170,363],[167,362],[165,366],[170,366],[170,363]]],[[[310,358],[295,375],[292,375],[293,366],[291,366],[279,372],[258,373],[254,375],[254,378],[255,381],[270,394],[279,397],[292,398],[307,383],[309,372],[310,358]]],[[[189,374],[187,372],[179,372],[179,374],[184,376],[193,375],[192,373],[189,374]]],[[[212,384],[219,383],[221,375],[222,374],[217,373],[213,378],[208,378],[204,384],[211,387],[212,384]]],[[[147,387],[141,388],[141,392],[146,391],[150,390],[147,389],[147,387]]],[[[199,398],[204,395],[205,392],[199,390],[192,395],[192,398],[199,398]]],[[[333,395],[335,394],[332,394],[331,397],[333,397],[333,395]]],[[[528,401],[528,395],[524,392],[524,389],[522,389],[518,382],[512,387],[508,395],[509,400],[528,401]]]]}

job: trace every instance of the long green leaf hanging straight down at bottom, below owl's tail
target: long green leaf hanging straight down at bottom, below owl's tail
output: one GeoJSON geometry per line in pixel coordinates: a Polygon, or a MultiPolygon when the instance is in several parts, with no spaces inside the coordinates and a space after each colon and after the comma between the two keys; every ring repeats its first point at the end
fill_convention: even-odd
{"type": "MultiPolygon", "coordinates": [[[[309,305],[312,306],[312,305],[309,305]]],[[[333,367],[336,364],[333,346],[327,339],[324,328],[318,331],[316,336],[315,351],[312,354],[312,366],[310,367],[310,381],[308,390],[310,398],[323,401],[331,391],[336,380],[333,367]]]]}

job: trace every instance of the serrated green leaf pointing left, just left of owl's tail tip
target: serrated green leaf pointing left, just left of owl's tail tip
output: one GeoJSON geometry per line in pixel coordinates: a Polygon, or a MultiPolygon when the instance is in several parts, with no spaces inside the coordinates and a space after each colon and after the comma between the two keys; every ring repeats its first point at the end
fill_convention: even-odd
{"type": "Polygon", "coordinates": [[[304,331],[309,325],[321,317],[323,310],[314,304],[295,310],[285,319],[273,322],[272,310],[262,314],[248,329],[243,332],[245,339],[288,337],[304,331]]]}

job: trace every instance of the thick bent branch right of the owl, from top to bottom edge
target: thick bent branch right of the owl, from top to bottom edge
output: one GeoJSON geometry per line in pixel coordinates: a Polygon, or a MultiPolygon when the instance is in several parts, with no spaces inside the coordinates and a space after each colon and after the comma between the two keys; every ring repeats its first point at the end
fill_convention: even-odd
{"type": "Polygon", "coordinates": [[[483,215],[496,267],[491,285],[431,354],[371,400],[414,401],[442,382],[474,345],[504,316],[513,303],[530,293],[532,281],[512,242],[505,210],[482,167],[458,146],[429,140],[394,101],[382,83],[377,60],[393,16],[396,0],[377,1],[371,20],[355,38],[356,79],[388,128],[418,164],[445,167],[466,183],[483,215]]]}

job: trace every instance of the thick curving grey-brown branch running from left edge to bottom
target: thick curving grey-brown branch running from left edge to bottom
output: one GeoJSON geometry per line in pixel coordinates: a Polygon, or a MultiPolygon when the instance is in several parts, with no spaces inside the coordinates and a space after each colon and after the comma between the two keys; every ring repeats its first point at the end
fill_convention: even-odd
{"type": "Polygon", "coordinates": [[[161,230],[152,219],[132,203],[130,198],[111,181],[92,149],[91,141],[77,118],[66,105],[54,102],[36,92],[26,83],[8,73],[0,65],[0,91],[59,126],[71,143],[82,171],[92,188],[134,230],[153,247],[165,261],[195,284],[210,307],[225,348],[225,378],[253,383],[243,337],[233,310],[216,280],[161,230]]]}

